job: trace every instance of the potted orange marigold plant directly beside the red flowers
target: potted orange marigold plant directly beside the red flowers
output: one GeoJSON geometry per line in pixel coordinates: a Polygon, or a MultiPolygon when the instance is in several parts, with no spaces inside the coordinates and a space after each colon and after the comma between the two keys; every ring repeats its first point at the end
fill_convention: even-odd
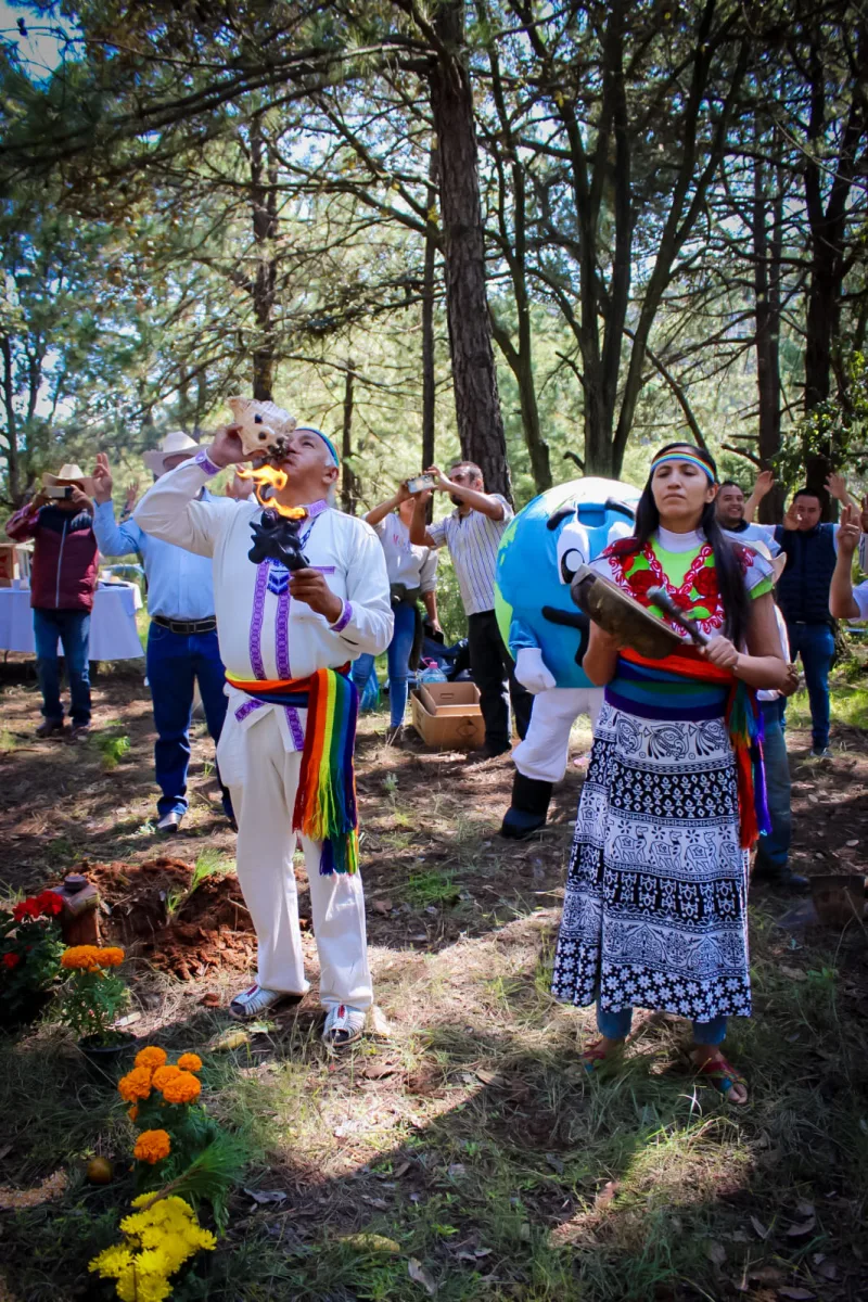
{"type": "Polygon", "coordinates": [[[116,970],[122,962],[124,950],[117,945],[70,945],[60,960],[66,973],[60,1019],[75,1031],[81,1051],[96,1062],[117,1057],[135,1043],[134,1036],[113,1027],[130,999],[116,970]]]}

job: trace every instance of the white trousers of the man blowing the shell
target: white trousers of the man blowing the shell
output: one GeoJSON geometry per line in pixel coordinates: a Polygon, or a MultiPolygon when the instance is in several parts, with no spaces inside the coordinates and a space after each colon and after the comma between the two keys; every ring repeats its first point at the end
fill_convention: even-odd
{"type": "MultiPolygon", "coordinates": [[[[292,825],[302,756],[285,749],[273,710],[246,729],[229,711],[225,729],[232,750],[229,790],[238,820],[238,880],[259,943],[256,980],[268,990],[301,995],[310,984],[298,926],[292,825]]],[[[325,1008],[370,1008],[373,992],[362,879],[358,872],[323,876],[321,842],[302,836],[301,844],[320,962],[320,1001],[325,1008]]]]}

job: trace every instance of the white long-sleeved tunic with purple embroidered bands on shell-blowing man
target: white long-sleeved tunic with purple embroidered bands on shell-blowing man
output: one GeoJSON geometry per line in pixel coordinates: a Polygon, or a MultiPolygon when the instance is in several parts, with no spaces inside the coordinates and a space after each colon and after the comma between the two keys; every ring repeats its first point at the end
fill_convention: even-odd
{"type": "MultiPolygon", "coordinates": [[[[217,637],[226,673],[242,681],[303,678],[315,669],[336,669],[363,652],[385,651],[394,621],[383,548],[371,526],[332,508],[302,526],[302,538],[308,530],[303,549],[311,568],[320,570],[344,602],[344,613],[329,626],[323,615],[292,599],[282,565],[249,560],[251,525],[262,514],[255,500],[197,501],[210,478],[204,460],[199,453],[157,479],[134,518],[146,534],[212,557],[217,637]]],[[[306,710],[255,702],[232,686],[226,695],[236,724],[252,727],[273,711],[286,750],[302,749],[306,710]]]]}

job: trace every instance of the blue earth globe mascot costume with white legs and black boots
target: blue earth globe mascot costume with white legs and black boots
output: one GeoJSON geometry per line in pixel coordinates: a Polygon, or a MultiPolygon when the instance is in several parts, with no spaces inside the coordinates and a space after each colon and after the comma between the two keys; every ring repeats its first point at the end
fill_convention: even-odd
{"type": "Polygon", "coordinates": [[[566,771],[576,715],[596,724],[603,689],[582,669],[590,622],[573,603],[579,565],[634,531],[639,490],[617,479],[573,479],[540,493],[515,516],[497,552],[495,611],[535,695],[531,724],[514,753],[513,802],[501,833],[521,838],[545,824],[552,788],[566,771]]]}

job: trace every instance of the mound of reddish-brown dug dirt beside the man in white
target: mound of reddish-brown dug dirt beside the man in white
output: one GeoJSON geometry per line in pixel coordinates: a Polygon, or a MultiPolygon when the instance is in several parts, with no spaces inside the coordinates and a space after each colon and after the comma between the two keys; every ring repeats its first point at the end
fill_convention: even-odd
{"type": "Polygon", "coordinates": [[[104,939],[155,967],[193,980],[217,967],[252,966],[254,927],[234,872],[191,889],[193,867],[164,855],[144,863],[85,859],[74,871],[99,891],[104,939]]]}

